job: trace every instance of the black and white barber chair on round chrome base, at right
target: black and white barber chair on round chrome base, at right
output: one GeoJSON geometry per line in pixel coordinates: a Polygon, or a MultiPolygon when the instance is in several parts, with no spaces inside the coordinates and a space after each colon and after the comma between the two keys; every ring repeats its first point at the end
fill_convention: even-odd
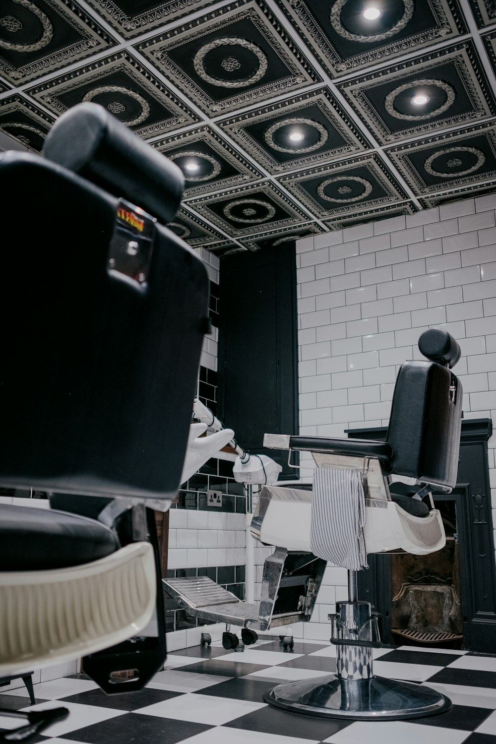
{"type": "MultiPolygon", "coordinates": [[[[264,437],[267,447],[312,452],[318,467],[361,472],[367,553],[424,555],[445,545],[431,490],[449,493],[456,483],[463,391],[451,368],[460,359],[460,347],[445,330],[431,329],[420,336],[419,350],[429,361],[405,362],[399,369],[385,442],[264,437]],[[393,477],[413,478],[416,485],[393,477]],[[431,508],[422,501],[425,497],[431,508]]],[[[311,553],[311,516],[312,492],[264,487],[251,531],[261,542],[277,545],[276,553],[281,549],[311,553]]],[[[265,701],[293,713],[355,720],[408,719],[450,708],[451,701],[435,690],[373,675],[377,621],[370,603],[358,601],[356,572],[349,571],[348,577],[349,600],[338,602],[335,615],[329,615],[337,673],[280,684],[265,695],[265,701]]],[[[300,604],[309,607],[303,620],[311,617],[317,591],[315,583],[306,597],[300,597],[300,604]]]]}

